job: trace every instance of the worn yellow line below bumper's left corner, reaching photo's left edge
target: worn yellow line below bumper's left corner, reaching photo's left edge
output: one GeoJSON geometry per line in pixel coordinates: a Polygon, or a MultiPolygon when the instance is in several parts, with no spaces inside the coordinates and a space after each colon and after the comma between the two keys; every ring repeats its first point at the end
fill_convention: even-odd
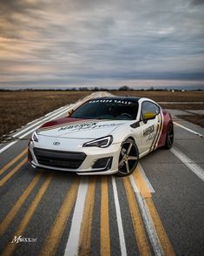
{"type": "Polygon", "coordinates": [[[30,192],[32,192],[33,188],[35,187],[37,181],[41,178],[41,176],[42,172],[36,174],[36,177],[30,182],[30,185],[28,185],[28,187],[20,196],[20,198],[17,199],[16,204],[12,207],[10,212],[3,219],[2,223],[0,224],[0,236],[2,236],[3,233],[7,230],[8,226],[10,226],[10,222],[14,219],[16,213],[20,210],[24,201],[28,198],[30,192]]]}

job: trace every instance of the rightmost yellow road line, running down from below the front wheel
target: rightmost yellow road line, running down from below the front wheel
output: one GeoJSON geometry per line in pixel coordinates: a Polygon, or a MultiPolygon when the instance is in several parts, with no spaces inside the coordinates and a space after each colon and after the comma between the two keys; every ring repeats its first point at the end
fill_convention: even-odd
{"type": "Polygon", "coordinates": [[[133,176],[134,176],[136,185],[138,186],[139,192],[141,193],[141,197],[145,200],[146,205],[148,206],[148,211],[153,220],[155,230],[160,240],[161,247],[164,254],[174,256],[175,255],[174,248],[171,245],[171,242],[168,239],[167,232],[165,231],[161,223],[161,219],[155,208],[155,204],[153,202],[151,192],[149,191],[149,188],[145,179],[143,179],[143,176],[141,174],[141,170],[139,167],[136,168],[135,172],[133,173],[133,176]]]}

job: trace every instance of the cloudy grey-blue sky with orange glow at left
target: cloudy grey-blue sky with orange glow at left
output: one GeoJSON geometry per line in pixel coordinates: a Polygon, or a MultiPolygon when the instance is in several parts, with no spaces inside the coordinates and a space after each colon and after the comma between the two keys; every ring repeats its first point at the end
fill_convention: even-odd
{"type": "Polygon", "coordinates": [[[0,88],[204,84],[204,0],[0,0],[0,88]]]}

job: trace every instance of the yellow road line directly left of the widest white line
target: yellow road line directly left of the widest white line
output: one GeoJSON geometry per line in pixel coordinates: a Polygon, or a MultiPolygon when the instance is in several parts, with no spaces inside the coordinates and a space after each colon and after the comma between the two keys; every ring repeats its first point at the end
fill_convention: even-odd
{"type": "Polygon", "coordinates": [[[49,235],[43,244],[43,249],[41,255],[55,255],[57,246],[63,236],[63,231],[66,227],[67,221],[69,219],[70,212],[76,201],[76,194],[79,186],[79,179],[76,178],[69,188],[65,199],[63,200],[63,205],[61,206],[59,212],[56,215],[56,219],[49,230],[49,235]]]}

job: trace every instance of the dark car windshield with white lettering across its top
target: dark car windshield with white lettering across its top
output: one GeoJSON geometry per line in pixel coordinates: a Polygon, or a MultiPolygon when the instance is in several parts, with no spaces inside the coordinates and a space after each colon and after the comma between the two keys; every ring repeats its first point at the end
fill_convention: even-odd
{"type": "Polygon", "coordinates": [[[135,120],[138,103],[121,99],[94,99],[82,104],[71,118],[135,120]]]}

